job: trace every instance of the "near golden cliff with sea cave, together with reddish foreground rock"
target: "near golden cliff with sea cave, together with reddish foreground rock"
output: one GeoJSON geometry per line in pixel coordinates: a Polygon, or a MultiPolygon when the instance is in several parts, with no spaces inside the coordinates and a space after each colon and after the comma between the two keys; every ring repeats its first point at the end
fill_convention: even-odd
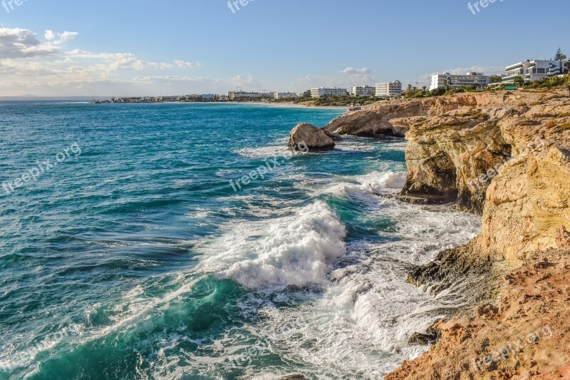
{"type": "Polygon", "coordinates": [[[482,232],[440,252],[408,282],[438,293],[480,277],[465,296],[484,303],[472,317],[438,324],[440,342],[386,379],[570,379],[569,98],[539,91],[461,97],[440,101],[447,112],[405,120],[402,194],[479,213],[482,232]],[[544,326],[555,338],[508,359],[487,357],[544,326]]]}

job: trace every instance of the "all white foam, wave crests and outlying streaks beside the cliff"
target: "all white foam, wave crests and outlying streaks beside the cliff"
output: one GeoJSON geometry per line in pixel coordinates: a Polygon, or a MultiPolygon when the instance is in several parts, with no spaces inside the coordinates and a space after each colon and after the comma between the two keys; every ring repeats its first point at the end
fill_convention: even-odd
{"type": "MultiPolygon", "coordinates": [[[[240,154],[271,157],[274,149],[240,154]]],[[[201,261],[172,279],[170,285],[176,290],[155,299],[145,297],[140,287],[133,289],[116,305],[113,324],[84,341],[147,323],[148,313],[166,309],[171,301],[191,293],[197,276],[214,273],[252,288],[243,307],[261,320],[232,327],[213,342],[195,342],[214,354],[188,354],[187,367],[180,365],[175,349],[160,349],[152,359],[156,379],[208,376],[214,369],[233,369],[228,358],[249,344],[234,335],[243,332],[269,344],[256,355],[278,354],[283,361],[302,364],[306,376],[340,379],[350,374],[358,379],[380,379],[402,360],[413,359],[427,349],[408,342],[415,332],[425,332],[465,302],[452,290],[432,297],[407,284],[409,270],[432,260],[446,247],[470,240],[480,230],[480,219],[445,207],[420,207],[379,197],[402,188],[405,173],[381,165],[376,169],[334,180],[309,180],[305,173],[296,173],[296,186],[313,199],[301,208],[298,200],[230,195],[229,206],[220,211],[244,219],[220,226],[217,237],[196,242],[201,261]],[[331,207],[318,200],[323,195],[362,207],[360,223],[384,218],[391,220],[393,227],[378,231],[378,240],[352,241],[347,246],[346,227],[331,207]],[[238,199],[243,204],[232,205],[238,199]],[[321,291],[306,292],[311,284],[318,284],[321,291]],[[289,285],[302,289],[283,291],[289,285]]],[[[197,211],[206,216],[205,210],[197,211]]],[[[153,282],[162,280],[150,278],[145,288],[153,282]]],[[[153,339],[176,346],[190,338],[158,334],[153,339]]],[[[248,379],[286,374],[283,369],[259,366],[247,366],[244,371],[248,379]]]]}

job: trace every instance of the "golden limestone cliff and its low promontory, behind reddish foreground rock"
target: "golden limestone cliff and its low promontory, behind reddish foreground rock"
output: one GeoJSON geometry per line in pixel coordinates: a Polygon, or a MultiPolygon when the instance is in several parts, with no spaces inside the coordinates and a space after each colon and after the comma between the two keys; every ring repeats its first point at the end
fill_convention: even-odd
{"type": "Polygon", "coordinates": [[[562,93],[462,93],[378,103],[323,129],[405,134],[403,199],[454,203],[483,217],[474,249],[517,262],[569,247],[570,102],[562,93]]]}

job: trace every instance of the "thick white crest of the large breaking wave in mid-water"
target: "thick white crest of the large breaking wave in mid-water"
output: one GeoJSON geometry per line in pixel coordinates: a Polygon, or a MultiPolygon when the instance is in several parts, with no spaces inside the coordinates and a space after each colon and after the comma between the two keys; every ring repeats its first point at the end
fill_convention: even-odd
{"type": "Polygon", "coordinates": [[[246,287],[322,284],[333,262],[345,252],[346,230],[321,201],[271,222],[229,228],[209,246],[219,254],[203,265],[246,287]]]}

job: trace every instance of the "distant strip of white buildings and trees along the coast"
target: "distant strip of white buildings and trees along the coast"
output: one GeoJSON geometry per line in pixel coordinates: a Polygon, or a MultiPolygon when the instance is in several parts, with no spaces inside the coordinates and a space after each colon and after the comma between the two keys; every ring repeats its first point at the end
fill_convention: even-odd
{"type": "MultiPolygon", "coordinates": [[[[564,76],[569,70],[569,62],[566,61],[561,51],[556,53],[556,58],[551,60],[526,60],[513,65],[507,66],[505,72],[501,76],[488,76],[484,73],[470,72],[465,75],[457,75],[451,73],[434,73],[432,74],[429,93],[437,96],[443,93],[460,90],[470,91],[492,91],[499,89],[516,90],[525,84],[543,81],[554,76],[564,76]]],[[[93,103],[165,103],[165,102],[291,102],[301,103],[304,101],[314,101],[318,99],[328,98],[353,98],[358,100],[368,98],[369,102],[373,99],[395,99],[401,98],[405,93],[416,93],[420,91],[422,94],[427,93],[427,86],[420,88],[420,84],[416,86],[408,85],[403,91],[402,83],[398,80],[387,83],[376,83],[375,86],[353,86],[348,88],[337,87],[319,87],[311,88],[304,93],[294,92],[246,92],[246,91],[229,91],[227,94],[192,94],[183,96],[145,96],[133,98],[111,98],[104,101],[93,101],[93,103]]],[[[348,104],[347,102],[342,104],[348,104]]],[[[341,105],[341,103],[332,103],[331,105],[341,105]]]]}

